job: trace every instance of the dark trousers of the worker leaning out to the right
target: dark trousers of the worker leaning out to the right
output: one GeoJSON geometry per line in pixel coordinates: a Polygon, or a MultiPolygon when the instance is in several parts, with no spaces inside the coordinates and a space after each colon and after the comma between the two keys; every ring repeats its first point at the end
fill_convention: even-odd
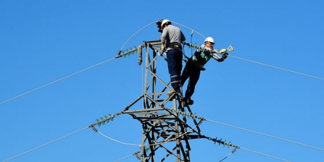
{"type": "Polygon", "coordinates": [[[189,78],[187,90],[185,93],[185,99],[191,99],[194,92],[194,88],[200,77],[200,68],[194,65],[192,58],[187,61],[184,71],[181,75],[181,86],[185,84],[185,81],[189,78]]]}

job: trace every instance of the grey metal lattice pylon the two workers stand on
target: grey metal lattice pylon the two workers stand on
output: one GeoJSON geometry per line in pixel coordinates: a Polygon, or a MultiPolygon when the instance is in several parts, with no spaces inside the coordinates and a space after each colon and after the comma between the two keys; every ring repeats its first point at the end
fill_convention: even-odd
{"type": "Polygon", "coordinates": [[[167,95],[166,92],[171,90],[170,83],[157,74],[158,61],[166,60],[163,54],[159,54],[161,41],[144,41],[137,48],[139,64],[142,48],[146,51],[144,92],[123,111],[142,124],[141,149],[137,158],[141,162],[190,162],[189,139],[202,137],[199,129],[202,121],[197,122],[194,117],[186,119],[179,113],[187,111],[192,114],[189,107],[183,106],[181,94],[167,95]],[[140,101],[142,108],[132,109],[140,101]]]}

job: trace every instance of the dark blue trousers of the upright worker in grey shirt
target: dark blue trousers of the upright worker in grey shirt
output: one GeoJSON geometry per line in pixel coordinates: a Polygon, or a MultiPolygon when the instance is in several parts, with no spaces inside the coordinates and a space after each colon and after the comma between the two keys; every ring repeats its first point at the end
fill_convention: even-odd
{"type": "Polygon", "coordinates": [[[180,92],[180,75],[182,70],[182,51],[171,49],[166,52],[167,68],[169,70],[171,86],[180,92]]]}

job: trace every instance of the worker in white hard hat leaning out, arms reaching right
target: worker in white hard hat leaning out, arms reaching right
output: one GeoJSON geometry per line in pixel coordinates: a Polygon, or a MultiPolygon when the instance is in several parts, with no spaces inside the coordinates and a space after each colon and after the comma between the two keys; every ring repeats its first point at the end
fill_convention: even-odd
{"type": "Polygon", "coordinates": [[[192,105],[193,100],[191,96],[194,92],[194,88],[199,80],[200,71],[205,70],[203,66],[209,61],[210,58],[214,58],[218,62],[222,62],[226,59],[227,53],[226,49],[221,49],[220,51],[214,50],[214,38],[207,37],[205,39],[205,44],[200,46],[196,52],[189,58],[181,75],[181,86],[185,84],[185,81],[189,78],[187,90],[184,97],[185,106],[192,105]],[[217,54],[222,54],[218,56],[217,54]]]}

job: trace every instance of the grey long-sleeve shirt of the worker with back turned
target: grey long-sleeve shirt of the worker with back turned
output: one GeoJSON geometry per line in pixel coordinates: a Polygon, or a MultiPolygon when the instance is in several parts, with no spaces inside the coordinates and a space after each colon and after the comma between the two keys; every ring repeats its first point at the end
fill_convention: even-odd
{"type": "Polygon", "coordinates": [[[179,27],[174,27],[173,25],[168,25],[163,29],[161,35],[161,43],[166,47],[169,46],[171,42],[181,43],[186,40],[185,35],[182,33],[179,27]]]}

